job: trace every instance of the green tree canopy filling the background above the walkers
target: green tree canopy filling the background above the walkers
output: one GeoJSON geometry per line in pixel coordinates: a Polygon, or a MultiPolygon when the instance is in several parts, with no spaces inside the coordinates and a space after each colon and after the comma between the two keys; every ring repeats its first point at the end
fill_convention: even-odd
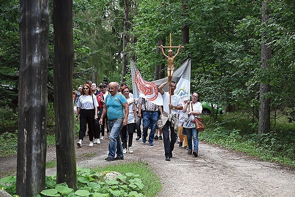
{"type": "MultiPolygon", "coordinates": [[[[192,91],[202,100],[226,106],[230,111],[259,108],[259,84],[270,84],[272,109],[295,116],[294,24],[295,3],[273,0],[271,18],[262,25],[262,2],[253,0],[131,0],[128,1],[128,30],[124,32],[125,1],[73,1],[73,87],[90,79],[100,83],[120,81],[122,33],[128,34],[124,49],[128,62],[136,65],[146,80],[153,80],[155,65],[165,64],[156,53],[160,40],[181,44],[181,26],[189,28],[189,42],[175,61],[176,68],[187,58],[192,62],[192,91]],[[183,14],[182,4],[187,8],[183,14]],[[269,68],[260,70],[263,33],[271,38],[269,68]]],[[[52,7],[52,5],[51,5],[52,7]]],[[[0,105],[17,104],[19,2],[0,3],[0,105]]],[[[52,10],[52,8],[51,8],[52,10]]],[[[48,97],[53,101],[53,26],[49,39],[48,97]]],[[[125,80],[131,83],[127,67],[125,80]]],[[[165,72],[166,73],[166,72],[165,72]]],[[[254,110],[254,111],[255,111],[254,110]]],[[[258,115],[256,113],[256,115],[258,115]]]]}

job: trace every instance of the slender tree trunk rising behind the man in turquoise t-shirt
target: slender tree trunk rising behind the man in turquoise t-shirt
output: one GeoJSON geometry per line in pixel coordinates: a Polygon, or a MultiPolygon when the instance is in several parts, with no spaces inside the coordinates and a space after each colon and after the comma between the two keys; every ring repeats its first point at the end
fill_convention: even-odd
{"type": "Polygon", "coordinates": [[[124,77],[126,75],[126,69],[128,64],[127,53],[125,51],[125,47],[128,41],[128,36],[127,36],[128,21],[129,21],[129,0],[125,0],[121,82],[125,81],[124,77]]]}

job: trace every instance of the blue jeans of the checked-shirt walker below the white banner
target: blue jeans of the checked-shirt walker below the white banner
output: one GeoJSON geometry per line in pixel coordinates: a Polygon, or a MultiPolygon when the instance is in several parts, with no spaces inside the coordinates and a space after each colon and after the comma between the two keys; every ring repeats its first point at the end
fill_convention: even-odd
{"type": "Polygon", "coordinates": [[[150,127],[150,132],[148,136],[149,142],[152,142],[155,136],[158,114],[158,111],[144,111],[143,113],[143,138],[146,138],[148,136],[148,128],[150,127]]]}

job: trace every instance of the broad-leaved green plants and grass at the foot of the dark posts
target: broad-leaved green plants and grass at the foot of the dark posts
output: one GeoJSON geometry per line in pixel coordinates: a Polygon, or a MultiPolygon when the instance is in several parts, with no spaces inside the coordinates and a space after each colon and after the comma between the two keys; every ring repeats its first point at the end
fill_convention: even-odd
{"type": "MultiPolygon", "coordinates": [[[[46,176],[46,188],[39,194],[39,197],[153,197],[156,192],[150,191],[153,189],[159,189],[154,183],[158,183],[158,178],[146,168],[145,164],[142,163],[131,163],[121,164],[120,166],[113,167],[117,168],[118,171],[121,169],[129,168],[128,166],[137,166],[141,171],[141,176],[148,178],[155,178],[148,185],[152,185],[150,188],[146,185],[147,181],[142,180],[139,174],[136,172],[126,172],[124,175],[118,175],[116,180],[105,180],[104,176],[108,171],[97,171],[97,169],[90,170],[88,168],[77,169],[77,185],[78,190],[74,191],[69,188],[66,183],[56,183],[56,176],[46,176]],[[151,177],[153,174],[153,177],[151,177]]],[[[107,167],[105,167],[107,168],[107,167]]],[[[111,167],[112,168],[112,167],[111,167]]],[[[135,168],[133,168],[135,169],[135,168]]],[[[124,171],[124,170],[123,170],[124,171]]],[[[134,171],[134,170],[133,170],[134,171]]],[[[136,170],[135,170],[136,171],[136,170]]],[[[0,179],[0,187],[11,195],[16,195],[16,177],[8,176],[0,179]]],[[[156,190],[158,191],[158,190],[156,190]]]]}

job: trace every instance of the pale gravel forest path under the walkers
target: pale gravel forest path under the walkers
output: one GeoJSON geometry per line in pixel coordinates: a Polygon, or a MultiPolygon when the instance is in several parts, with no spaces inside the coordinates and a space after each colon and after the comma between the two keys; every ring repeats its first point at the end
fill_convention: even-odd
{"type": "MultiPolygon", "coordinates": [[[[135,134],[136,135],[136,134],[135,134]]],[[[165,161],[163,140],[154,146],[140,139],[133,140],[134,153],[124,160],[107,162],[109,139],[88,146],[88,137],[82,148],[76,147],[77,166],[94,167],[108,164],[144,162],[160,178],[162,190],[158,197],[294,197],[295,170],[285,166],[262,162],[246,154],[226,150],[200,141],[199,156],[187,155],[183,147],[175,144],[173,158],[165,161]]],[[[56,159],[55,146],[47,149],[47,162],[56,159]]],[[[0,158],[0,177],[15,174],[17,157],[0,158]]],[[[48,168],[53,175],[56,168],[48,168]]]]}

